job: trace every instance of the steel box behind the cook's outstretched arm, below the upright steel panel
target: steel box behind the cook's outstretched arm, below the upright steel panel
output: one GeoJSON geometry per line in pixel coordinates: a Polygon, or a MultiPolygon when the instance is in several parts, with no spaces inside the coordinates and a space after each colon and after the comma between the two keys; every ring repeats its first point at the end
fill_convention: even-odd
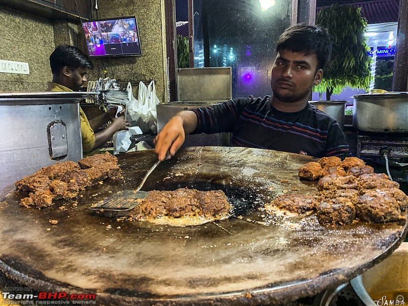
{"type": "MultiPolygon", "coordinates": [[[[218,102],[217,102],[218,103],[218,102]]],[[[193,108],[206,107],[216,104],[214,101],[188,101],[160,103],[157,107],[158,132],[176,113],[193,108]]],[[[230,133],[186,135],[183,147],[190,146],[230,146],[230,133]]]]}

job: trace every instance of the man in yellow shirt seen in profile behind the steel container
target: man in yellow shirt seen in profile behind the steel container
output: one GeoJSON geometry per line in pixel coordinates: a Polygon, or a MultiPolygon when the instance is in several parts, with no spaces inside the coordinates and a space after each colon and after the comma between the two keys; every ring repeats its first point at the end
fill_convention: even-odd
{"type": "MultiPolygon", "coordinates": [[[[47,91],[79,91],[86,82],[88,69],[92,62],[79,48],[69,45],[59,45],[49,57],[53,72],[53,82],[47,83],[47,91]]],[[[93,153],[101,145],[112,138],[117,131],[129,130],[130,123],[124,119],[124,111],[116,116],[117,106],[108,112],[88,121],[80,108],[82,151],[84,155],[93,153]],[[108,121],[112,123],[103,131],[94,133],[108,121]]]]}

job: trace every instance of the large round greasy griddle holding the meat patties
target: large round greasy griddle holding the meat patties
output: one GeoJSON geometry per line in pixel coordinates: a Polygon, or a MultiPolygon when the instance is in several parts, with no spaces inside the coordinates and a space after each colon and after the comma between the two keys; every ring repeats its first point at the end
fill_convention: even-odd
{"type": "Polygon", "coordinates": [[[118,159],[123,181],[88,189],[77,206],[58,200],[21,208],[27,195],[9,194],[0,203],[0,269],[36,290],[96,293],[104,305],[284,303],[347,282],[406,234],[406,222],[323,227],[313,214],[268,216],[260,208],[277,195],[317,191],[297,176],[313,158],[250,148],[181,149],[144,187],[221,188],[235,217],[188,227],[109,219],[89,206],[137,186],[157,156],[147,150],[118,159]]]}

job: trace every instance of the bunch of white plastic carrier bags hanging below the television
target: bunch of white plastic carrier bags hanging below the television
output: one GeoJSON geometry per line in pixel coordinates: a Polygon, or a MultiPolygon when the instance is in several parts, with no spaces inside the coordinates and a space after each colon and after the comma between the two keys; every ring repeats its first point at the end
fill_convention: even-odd
{"type": "Polygon", "coordinates": [[[155,82],[149,86],[140,82],[138,99],[132,94],[132,86],[127,85],[129,101],[126,103],[126,119],[132,126],[139,126],[143,133],[157,133],[156,105],[160,103],[157,98],[155,82]]]}

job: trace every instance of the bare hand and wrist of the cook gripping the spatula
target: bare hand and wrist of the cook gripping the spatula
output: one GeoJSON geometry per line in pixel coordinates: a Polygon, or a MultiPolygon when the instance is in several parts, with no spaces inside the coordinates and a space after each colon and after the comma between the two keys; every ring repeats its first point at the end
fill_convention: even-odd
{"type": "Polygon", "coordinates": [[[192,111],[177,113],[163,127],[155,138],[155,152],[163,161],[167,152],[173,156],[182,146],[186,135],[194,132],[197,127],[197,116],[192,111]]]}

